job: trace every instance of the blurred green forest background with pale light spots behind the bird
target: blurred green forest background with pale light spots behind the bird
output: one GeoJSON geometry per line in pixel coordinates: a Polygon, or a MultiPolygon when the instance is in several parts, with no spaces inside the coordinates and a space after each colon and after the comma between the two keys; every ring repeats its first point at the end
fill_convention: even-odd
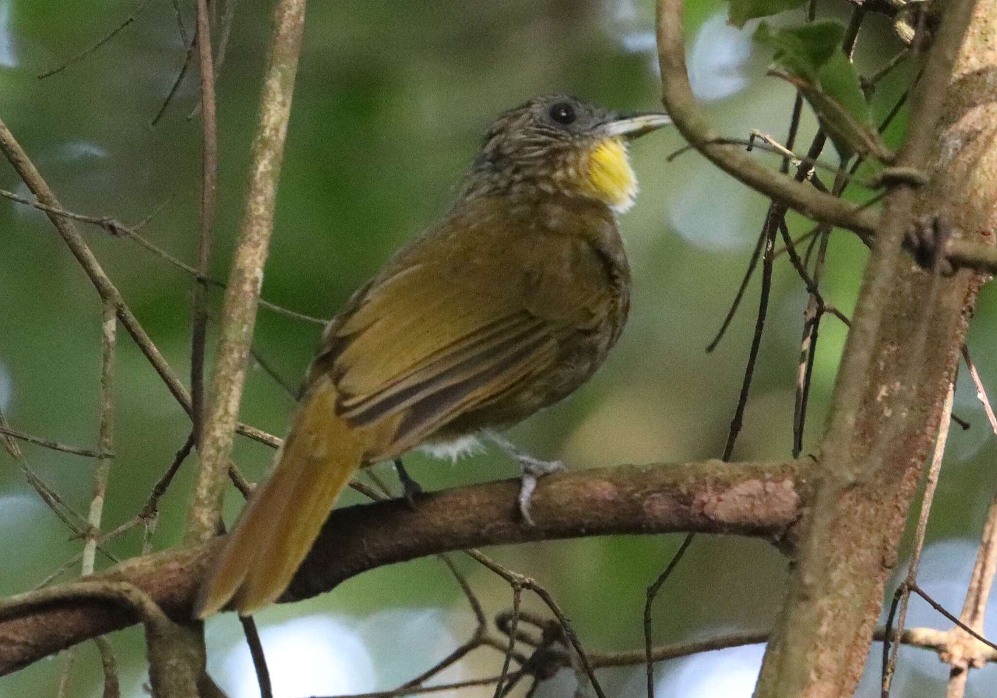
{"type": "MultiPolygon", "coordinates": [[[[196,70],[180,84],[155,128],[185,48],[172,6],[152,2],[110,43],[65,71],[39,80],[121,23],[141,3],[105,0],[0,0],[0,118],[20,139],[68,208],[136,223],[156,244],[193,262],[196,249],[200,132],[196,70]],[[163,205],[165,204],[165,205],[163,205]]],[[[187,31],[191,9],[181,2],[187,31]]],[[[239,3],[218,80],[220,188],[213,274],[224,278],[238,218],[255,122],[270,3],[239,3]]],[[[821,0],[822,15],[846,19],[843,0],[821,0]]],[[[699,97],[725,135],[752,129],[785,139],[794,92],[766,77],[770,55],[753,45],[755,25],[726,24],[726,3],[688,0],[689,69],[699,97]]],[[[801,21],[803,12],[779,21],[801,21]]],[[[868,19],[856,61],[868,74],[898,49],[889,26],[868,19]]],[[[881,119],[909,83],[912,68],[883,81],[873,100],[881,119]]],[[[500,111],[543,92],[569,92],[621,110],[655,109],[659,82],[652,0],[341,0],[313,2],[294,95],[279,205],[263,297],[322,318],[406,239],[449,205],[485,127],[500,111]]],[[[805,110],[806,111],[806,110],[805,110]]],[[[887,141],[902,133],[901,116],[887,141]]],[[[816,131],[805,113],[798,150],[816,131]]],[[[669,162],[682,146],[674,133],[632,149],[642,192],[621,220],[633,268],[633,310],[605,368],[569,400],[514,429],[537,456],[573,469],[623,463],[717,458],[741,386],[758,303],[753,282],[726,339],[704,347],[724,317],[761,228],[767,201],[695,154],[669,162]]],[[[759,158],[772,158],[759,154],[759,158]]],[[[836,167],[829,149],[824,161],[836,167]]],[[[775,167],[778,161],[770,160],[775,167]]],[[[830,181],[832,174],[826,174],[830,181]]],[[[0,167],[0,187],[24,193],[0,167]]],[[[853,188],[857,199],[867,196],[853,188]]],[[[791,217],[795,233],[809,225],[791,217]]],[[[60,442],[96,445],[100,304],[51,224],[38,211],[0,203],[0,408],[11,426],[60,442]]],[[[128,239],[87,228],[88,242],[167,360],[188,372],[190,279],[128,239]]],[[[849,233],[831,236],[825,297],[850,313],[865,251],[849,233]]],[[[216,311],[220,293],[212,291],[216,311]]],[[[784,255],[777,260],[769,321],[735,460],[785,459],[792,447],[794,381],[800,352],[803,284],[784,255]]],[[[986,289],[969,346],[984,382],[997,391],[997,303],[986,289]]],[[[255,346],[296,385],[320,327],[261,310],[255,346]]],[[[830,399],[843,328],[826,317],[811,393],[806,449],[816,448],[830,399]]],[[[210,352],[209,352],[210,355],[210,352]]],[[[189,423],[164,385],[119,332],[117,440],[105,528],[138,512],[189,423]]],[[[242,418],[282,435],[291,400],[261,370],[251,371],[242,418]]],[[[997,481],[995,450],[968,380],[956,412],[972,427],[954,427],[928,530],[921,585],[958,612],[979,531],[997,481]]],[[[805,453],[807,452],[805,449],[805,453]]],[[[24,445],[30,465],[78,511],[90,502],[91,461],[24,445]]],[[[235,458],[253,480],[272,452],[239,439],[235,458]]],[[[495,454],[457,465],[407,459],[426,488],[512,477],[495,454]]],[[[165,500],[157,549],[181,535],[195,460],[180,470],[165,500]]],[[[389,483],[390,469],[377,468],[389,483]]],[[[360,499],[348,494],[345,503],[360,499]]],[[[241,498],[231,491],[226,519],[241,498]]],[[[535,576],[573,619],[593,650],[642,646],[644,589],[681,535],[553,541],[490,549],[500,562],[535,576]]],[[[16,462],[0,452],[0,594],[31,588],[79,552],[82,542],[39,500],[16,462]]],[[[109,544],[120,557],[138,553],[141,528],[109,544]]],[[[509,607],[504,582],[457,554],[490,617],[509,607]]],[[[902,563],[902,560],[901,560],[902,563]]],[[[98,556],[98,567],[109,564],[98,556]]],[[[78,566],[63,578],[77,574],[78,566]]],[[[786,560],[769,544],[699,537],[655,604],[655,640],[703,638],[766,629],[783,593],[786,560]]],[[[890,591],[892,587],[890,588],[890,591]]],[[[526,595],[525,607],[541,610],[526,595]]],[[[911,601],[908,626],[947,628],[911,601]]],[[[997,613],[987,630],[997,635],[997,613]]],[[[257,616],[279,696],[331,695],[393,688],[441,659],[474,628],[459,586],[436,559],[385,567],[310,601],[257,616]]],[[[111,636],[123,693],[144,695],[141,629],[111,636]]],[[[209,668],[232,698],[258,695],[248,650],[234,617],[207,623],[209,668]]],[[[682,698],[749,696],[761,645],[658,665],[659,690],[682,698]]],[[[874,647],[877,655],[878,646],[874,647]]],[[[0,679],[0,696],[55,695],[63,663],[39,662],[0,679]]],[[[457,681],[493,675],[500,655],[479,650],[440,675],[457,681]]],[[[878,695],[878,660],[860,696],[878,695]]],[[[607,692],[644,695],[644,668],[603,670],[607,692]]],[[[918,698],[943,692],[946,667],[934,655],[905,649],[894,688],[918,698]]],[[[992,694],[997,669],[973,672],[967,695],[992,694]],[[988,685],[989,684],[989,685],[988,685]]],[[[570,672],[537,696],[568,695],[570,672]]],[[[84,645],[69,695],[100,695],[93,644],[84,645]]],[[[448,695],[492,695],[465,689],[448,695]]],[[[519,691],[516,695],[521,695],[519,691]]]]}

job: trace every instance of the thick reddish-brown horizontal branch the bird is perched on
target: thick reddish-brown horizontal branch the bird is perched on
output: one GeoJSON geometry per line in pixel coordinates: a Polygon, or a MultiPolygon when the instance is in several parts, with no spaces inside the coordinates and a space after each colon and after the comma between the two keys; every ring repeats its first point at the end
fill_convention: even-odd
{"type": "MultiPolygon", "coordinates": [[[[549,476],[533,495],[533,526],[516,516],[517,480],[434,493],[420,499],[414,512],[403,501],[349,507],[330,517],[282,600],[327,591],[367,569],[467,547],[675,531],[780,540],[810,501],[813,473],[813,461],[805,459],[619,466],[549,476]]],[[[131,559],[88,579],[134,584],[183,621],[223,540],[131,559]]],[[[134,614],[114,604],[89,601],[54,602],[2,619],[0,675],[134,622],[134,614]]]]}

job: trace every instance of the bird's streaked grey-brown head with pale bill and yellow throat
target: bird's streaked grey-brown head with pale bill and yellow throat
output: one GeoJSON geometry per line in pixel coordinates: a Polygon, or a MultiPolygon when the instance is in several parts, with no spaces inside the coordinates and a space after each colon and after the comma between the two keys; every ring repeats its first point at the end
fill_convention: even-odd
{"type": "Polygon", "coordinates": [[[664,114],[621,115],[567,95],[534,98],[489,128],[465,194],[566,193],[624,211],[637,193],[627,143],[670,123],[664,114]]]}

